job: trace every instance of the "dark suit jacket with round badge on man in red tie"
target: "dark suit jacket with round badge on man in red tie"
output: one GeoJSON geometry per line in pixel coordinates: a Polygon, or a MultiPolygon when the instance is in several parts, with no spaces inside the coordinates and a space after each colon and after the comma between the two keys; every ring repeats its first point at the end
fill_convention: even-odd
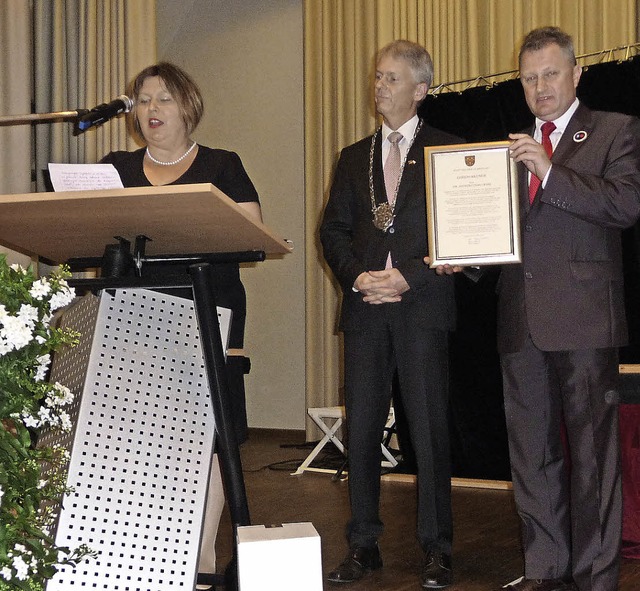
{"type": "Polygon", "coordinates": [[[523,264],[498,280],[498,349],[528,333],[546,351],[624,345],[620,234],[640,216],[640,120],[580,105],[551,161],[532,206],[519,170],[523,264]]]}

